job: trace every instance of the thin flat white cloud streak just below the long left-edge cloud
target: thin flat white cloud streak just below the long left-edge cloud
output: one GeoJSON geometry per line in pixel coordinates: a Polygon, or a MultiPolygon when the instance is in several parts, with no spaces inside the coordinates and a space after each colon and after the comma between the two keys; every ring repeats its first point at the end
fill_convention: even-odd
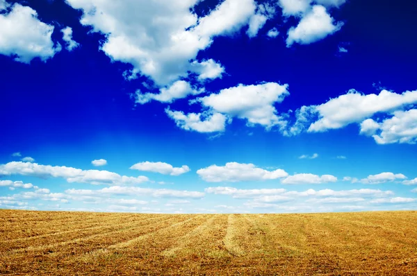
{"type": "Polygon", "coordinates": [[[67,189],[71,196],[153,196],[156,198],[204,198],[204,193],[199,191],[179,191],[171,189],[150,189],[140,187],[112,186],[99,190],[67,189]]]}

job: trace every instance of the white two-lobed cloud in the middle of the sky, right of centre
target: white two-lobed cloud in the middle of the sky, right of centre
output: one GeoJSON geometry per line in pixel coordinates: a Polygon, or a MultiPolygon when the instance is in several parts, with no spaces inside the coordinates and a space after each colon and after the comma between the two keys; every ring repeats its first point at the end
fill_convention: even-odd
{"type": "Polygon", "coordinates": [[[208,117],[200,119],[202,114],[183,114],[179,111],[166,110],[168,116],[176,121],[177,126],[198,132],[218,132],[225,128],[225,123],[233,118],[245,119],[247,126],[261,125],[266,129],[286,126],[284,118],[277,114],[275,104],[284,101],[289,95],[288,85],[278,83],[261,83],[259,85],[237,85],[197,98],[192,103],[200,103],[207,111],[208,117]],[[227,120],[229,118],[229,120],[227,120]]]}

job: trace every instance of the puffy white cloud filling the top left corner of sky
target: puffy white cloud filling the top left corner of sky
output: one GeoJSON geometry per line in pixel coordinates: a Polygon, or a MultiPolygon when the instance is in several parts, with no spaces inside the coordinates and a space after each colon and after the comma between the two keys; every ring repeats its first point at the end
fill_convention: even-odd
{"type": "MultiPolygon", "coordinates": [[[[6,7],[4,1],[1,6],[6,7]]],[[[53,32],[54,26],[40,21],[35,10],[15,3],[10,12],[0,14],[0,53],[19,62],[30,63],[33,58],[45,62],[61,48],[54,46],[53,32]]]]}

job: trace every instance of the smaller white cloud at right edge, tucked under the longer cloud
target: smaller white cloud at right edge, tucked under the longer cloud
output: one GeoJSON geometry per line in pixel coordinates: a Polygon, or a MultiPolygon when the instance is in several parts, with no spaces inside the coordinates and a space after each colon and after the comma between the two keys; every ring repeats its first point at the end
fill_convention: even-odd
{"type": "Polygon", "coordinates": [[[377,144],[417,143],[417,110],[396,111],[390,119],[379,124],[379,131],[373,135],[377,144]]]}

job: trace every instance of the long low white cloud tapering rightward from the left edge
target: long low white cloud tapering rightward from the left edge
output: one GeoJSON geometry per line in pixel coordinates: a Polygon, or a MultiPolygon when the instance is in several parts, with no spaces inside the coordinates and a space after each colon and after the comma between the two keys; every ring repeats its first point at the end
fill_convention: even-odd
{"type": "Polygon", "coordinates": [[[0,175],[30,175],[39,178],[65,178],[67,182],[89,184],[140,184],[149,181],[145,176],[130,177],[110,171],[76,169],[67,166],[50,166],[28,162],[9,162],[0,165],[0,175]]]}

